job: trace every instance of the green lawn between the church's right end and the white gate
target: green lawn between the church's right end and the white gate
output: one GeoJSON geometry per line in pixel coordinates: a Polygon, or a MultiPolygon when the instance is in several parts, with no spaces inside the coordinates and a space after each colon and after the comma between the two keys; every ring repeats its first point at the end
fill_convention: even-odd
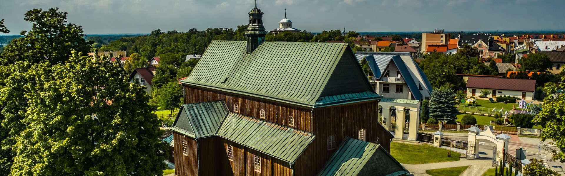
{"type": "Polygon", "coordinates": [[[449,152],[448,149],[433,147],[429,144],[390,143],[390,155],[403,164],[459,161],[461,153],[451,152],[451,157],[447,157],[447,152],[449,152]]]}

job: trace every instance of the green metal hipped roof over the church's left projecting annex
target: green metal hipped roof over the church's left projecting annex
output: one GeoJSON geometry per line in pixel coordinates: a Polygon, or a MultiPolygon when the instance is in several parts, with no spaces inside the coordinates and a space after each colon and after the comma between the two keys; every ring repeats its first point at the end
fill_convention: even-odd
{"type": "Polygon", "coordinates": [[[224,100],[183,104],[171,129],[194,139],[215,135],[228,114],[224,100]]]}

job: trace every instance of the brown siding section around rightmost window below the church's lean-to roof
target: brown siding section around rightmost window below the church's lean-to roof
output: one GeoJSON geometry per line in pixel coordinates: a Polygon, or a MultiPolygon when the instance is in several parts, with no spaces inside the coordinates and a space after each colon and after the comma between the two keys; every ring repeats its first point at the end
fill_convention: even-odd
{"type": "Polygon", "coordinates": [[[255,151],[253,149],[246,149],[245,150],[245,171],[246,175],[252,176],[267,176],[272,175],[272,163],[271,163],[271,156],[265,155],[264,153],[255,151]],[[261,173],[255,171],[255,162],[254,156],[257,155],[261,157],[261,173]]]}

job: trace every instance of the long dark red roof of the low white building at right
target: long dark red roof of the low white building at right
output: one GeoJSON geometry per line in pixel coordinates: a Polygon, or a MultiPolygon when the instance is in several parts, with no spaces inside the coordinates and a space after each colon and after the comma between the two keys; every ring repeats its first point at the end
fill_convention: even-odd
{"type": "Polygon", "coordinates": [[[469,77],[467,87],[494,90],[535,91],[536,80],[469,77]]]}

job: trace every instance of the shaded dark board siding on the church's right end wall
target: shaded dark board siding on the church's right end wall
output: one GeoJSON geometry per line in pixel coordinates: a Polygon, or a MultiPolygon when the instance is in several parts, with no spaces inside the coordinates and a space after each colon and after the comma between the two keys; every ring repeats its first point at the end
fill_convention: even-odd
{"type": "Polygon", "coordinates": [[[314,109],[314,134],[316,139],[295,162],[295,175],[315,175],[323,168],[345,137],[358,139],[360,129],[366,129],[366,141],[381,144],[390,149],[392,135],[377,126],[376,101],[338,105],[314,109]],[[336,149],[327,149],[329,135],[336,135],[336,149]]]}

